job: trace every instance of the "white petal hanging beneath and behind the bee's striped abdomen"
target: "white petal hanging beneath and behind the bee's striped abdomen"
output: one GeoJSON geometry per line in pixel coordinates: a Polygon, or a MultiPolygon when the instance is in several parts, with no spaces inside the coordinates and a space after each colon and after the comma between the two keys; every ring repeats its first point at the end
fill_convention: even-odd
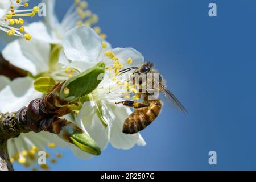
{"type": "Polygon", "coordinates": [[[112,110],[115,119],[112,121],[110,143],[115,148],[130,149],[135,144],[139,146],[146,145],[146,142],[139,133],[136,134],[124,134],[122,133],[123,123],[125,119],[131,114],[131,110],[122,105],[116,105],[109,102],[109,110],[112,110]]]}

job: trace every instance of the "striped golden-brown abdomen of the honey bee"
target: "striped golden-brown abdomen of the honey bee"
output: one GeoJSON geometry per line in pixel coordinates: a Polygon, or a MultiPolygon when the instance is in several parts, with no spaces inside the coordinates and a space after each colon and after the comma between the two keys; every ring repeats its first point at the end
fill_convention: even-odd
{"type": "Polygon", "coordinates": [[[159,115],[162,108],[162,101],[148,100],[150,106],[135,109],[123,123],[123,133],[133,134],[143,130],[150,125],[159,115]]]}

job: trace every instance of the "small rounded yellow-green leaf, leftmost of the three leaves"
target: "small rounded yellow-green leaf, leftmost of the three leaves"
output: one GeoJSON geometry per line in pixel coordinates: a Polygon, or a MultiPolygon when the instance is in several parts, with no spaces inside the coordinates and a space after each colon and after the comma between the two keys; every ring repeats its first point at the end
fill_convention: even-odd
{"type": "Polygon", "coordinates": [[[55,85],[56,82],[51,77],[40,77],[37,78],[34,82],[35,90],[42,93],[48,93],[55,85]]]}

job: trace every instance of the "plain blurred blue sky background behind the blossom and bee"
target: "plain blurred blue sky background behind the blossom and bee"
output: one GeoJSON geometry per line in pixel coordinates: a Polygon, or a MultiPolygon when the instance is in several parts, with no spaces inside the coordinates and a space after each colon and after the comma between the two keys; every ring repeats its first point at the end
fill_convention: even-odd
{"type": "MultiPolygon", "coordinates": [[[[73,1],[56,2],[61,19],[73,1]]],[[[88,3],[112,46],[133,47],[153,61],[189,115],[166,103],[162,114],[141,132],[146,146],[117,150],[109,144],[89,160],[58,148],[63,158],[51,169],[256,169],[256,1],[88,3]],[[208,15],[211,2],[217,4],[217,17],[208,15]],[[208,163],[212,150],[217,165],[208,163]]],[[[16,163],[14,168],[26,169],[16,163]]]]}

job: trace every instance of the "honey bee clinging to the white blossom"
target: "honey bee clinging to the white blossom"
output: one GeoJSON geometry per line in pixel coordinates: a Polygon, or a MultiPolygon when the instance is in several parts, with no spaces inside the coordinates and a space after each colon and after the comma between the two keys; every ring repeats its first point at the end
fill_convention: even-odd
{"type": "MultiPolygon", "coordinates": [[[[142,102],[135,102],[135,101],[121,101],[117,102],[115,104],[123,104],[128,107],[133,107],[134,111],[129,115],[129,117],[126,118],[125,122],[123,123],[123,133],[126,134],[134,134],[138,133],[139,131],[145,129],[148,125],[150,125],[156,117],[160,114],[160,111],[162,110],[163,102],[160,100],[160,98],[155,99],[149,99],[150,96],[152,96],[152,92],[150,92],[150,89],[146,86],[146,92],[142,92],[142,86],[141,85],[148,85],[147,82],[151,81],[151,90],[156,90],[163,94],[165,98],[168,99],[170,104],[176,109],[179,109],[183,111],[185,115],[187,115],[187,110],[185,107],[177,100],[177,98],[172,94],[167,88],[164,86],[164,80],[163,77],[160,75],[158,71],[154,69],[154,64],[151,62],[146,62],[142,64],[140,67],[131,67],[127,69],[123,69],[120,71],[121,74],[129,72],[131,70],[135,69],[135,71],[132,73],[131,78],[133,78],[134,82],[134,76],[140,76],[142,73],[146,75],[146,81],[139,79],[139,96],[142,98],[142,102]],[[151,73],[150,77],[148,77],[148,73],[151,73]],[[156,74],[154,74],[156,73],[156,74]],[[158,76],[158,81],[155,81],[154,75],[158,76]],[[154,81],[153,81],[154,80],[154,81]]],[[[131,81],[131,80],[129,80],[131,81]]]]}

